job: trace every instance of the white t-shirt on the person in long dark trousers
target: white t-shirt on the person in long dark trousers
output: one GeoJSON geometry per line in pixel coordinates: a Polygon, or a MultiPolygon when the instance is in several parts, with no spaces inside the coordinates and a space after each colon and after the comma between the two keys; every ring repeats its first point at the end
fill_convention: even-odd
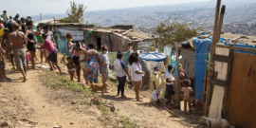
{"type": "Polygon", "coordinates": [[[115,68],[115,72],[116,72],[116,76],[117,77],[124,77],[126,76],[126,73],[124,72],[123,69],[126,68],[125,64],[120,61],[119,59],[116,59],[114,62],[114,68],[115,68]]]}

